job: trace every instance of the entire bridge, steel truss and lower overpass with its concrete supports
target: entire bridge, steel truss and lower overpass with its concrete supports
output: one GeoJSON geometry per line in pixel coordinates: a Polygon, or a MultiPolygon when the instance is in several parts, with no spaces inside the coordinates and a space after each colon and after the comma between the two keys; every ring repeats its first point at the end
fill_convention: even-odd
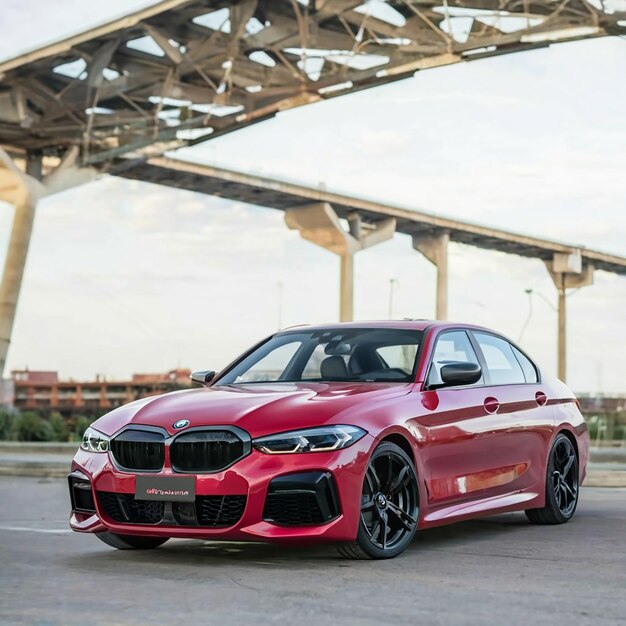
{"type": "Polygon", "coordinates": [[[438,268],[442,318],[449,241],[540,258],[559,293],[565,378],[566,290],[594,269],[625,273],[625,259],[160,157],[427,68],[625,34],[625,0],[162,0],[0,61],[0,200],[15,206],[0,374],[37,200],[108,171],[284,210],[340,256],[341,319],[352,317],[354,254],[396,230],[438,268]]]}

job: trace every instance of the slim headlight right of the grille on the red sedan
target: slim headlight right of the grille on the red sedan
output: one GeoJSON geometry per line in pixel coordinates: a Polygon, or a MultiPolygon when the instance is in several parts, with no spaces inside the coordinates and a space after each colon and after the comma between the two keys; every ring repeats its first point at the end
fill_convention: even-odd
{"type": "Polygon", "coordinates": [[[332,452],[351,446],[366,434],[356,426],[322,426],[259,437],[252,445],[265,454],[332,452]]]}

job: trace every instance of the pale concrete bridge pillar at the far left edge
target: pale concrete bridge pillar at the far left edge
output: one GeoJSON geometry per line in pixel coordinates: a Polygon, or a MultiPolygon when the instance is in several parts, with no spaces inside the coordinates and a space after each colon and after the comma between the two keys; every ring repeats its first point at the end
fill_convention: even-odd
{"type": "MultiPolygon", "coordinates": [[[[41,177],[40,159],[29,159],[27,171],[41,177]]],[[[0,150],[0,200],[12,204],[15,213],[0,282],[0,378],[4,372],[17,300],[24,276],[35,207],[43,188],[36,178],[22,173],[0,150]]]]}

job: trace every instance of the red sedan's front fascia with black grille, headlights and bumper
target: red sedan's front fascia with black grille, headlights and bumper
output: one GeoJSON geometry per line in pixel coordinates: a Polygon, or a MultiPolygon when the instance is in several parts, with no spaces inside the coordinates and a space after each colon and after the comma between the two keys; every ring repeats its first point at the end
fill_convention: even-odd
{"type": "Polygon", "coordinates": [[[374,443],[370,434],[338,425],[253,441],[235,426],[176,430],[174,423],[169,429],[130,424],[111,435],[87,431],[69,475],[73,530],[354,539],[358,494],[374,443]],[[291,452],[307,433],[319,450],[291,452]]]}

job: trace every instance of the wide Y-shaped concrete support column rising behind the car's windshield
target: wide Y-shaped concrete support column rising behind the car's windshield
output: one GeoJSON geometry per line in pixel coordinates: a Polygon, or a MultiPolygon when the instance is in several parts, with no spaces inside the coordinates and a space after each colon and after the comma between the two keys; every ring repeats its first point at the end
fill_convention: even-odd
{"type": "Polygon", "coordinates": [[[364,224],[355,211],[348,215],[346,231],[328,202],[316,202],[287,209],[285,222],[289,228],[298,230],[303,239],[339,256],[339,320],[352,321],[354,255],[360,250],[391,239],[396,230],[396,220],[388,218],[374,225],[364,224]]]}

